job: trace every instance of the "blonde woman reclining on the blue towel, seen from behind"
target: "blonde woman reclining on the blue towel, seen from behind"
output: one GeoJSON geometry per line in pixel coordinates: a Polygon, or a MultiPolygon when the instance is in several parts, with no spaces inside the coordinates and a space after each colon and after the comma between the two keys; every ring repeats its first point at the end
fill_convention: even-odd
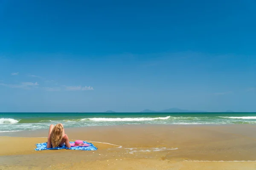
{"type": "Polygon", "coordinates": [[[61,147],[64,144],[66,144],[67,147],[71,147],[62,123],[59,123],[55,126],[50,125],[47,148],[54,148],[58,146],[61,147]]]}

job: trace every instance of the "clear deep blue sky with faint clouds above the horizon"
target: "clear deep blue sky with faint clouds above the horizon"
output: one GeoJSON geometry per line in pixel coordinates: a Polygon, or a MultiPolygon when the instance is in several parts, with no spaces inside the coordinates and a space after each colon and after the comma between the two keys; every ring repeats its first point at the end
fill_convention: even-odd
{"type": "Polygon", "coordinates": [[[256,2],[0,1],[0,112],[256,111],[256,2]]]}

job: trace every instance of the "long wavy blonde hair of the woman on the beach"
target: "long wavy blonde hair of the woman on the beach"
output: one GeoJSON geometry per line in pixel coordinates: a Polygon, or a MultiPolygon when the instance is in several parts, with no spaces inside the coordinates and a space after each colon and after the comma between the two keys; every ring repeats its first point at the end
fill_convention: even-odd
{"type": "Polygon", "coordinates": [[[51,133],[52,147],[57,147],[61,143],[62,135],[63,135],[63,126],[59,123],[55,125],[52,129],[52,133],[51,133]]]}

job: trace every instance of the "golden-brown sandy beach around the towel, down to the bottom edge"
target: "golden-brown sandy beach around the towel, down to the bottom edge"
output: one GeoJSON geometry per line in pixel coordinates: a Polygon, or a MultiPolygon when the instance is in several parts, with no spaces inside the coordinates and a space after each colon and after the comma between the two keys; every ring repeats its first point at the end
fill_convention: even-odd
{"type": "Polygon", "coordinates": [[[119,125],[67,128],[96,151],[43,150],[48,130],[1,133],[0,169],[255,170],[256,125],[119,125]],[[16,136],[16,137],[6,137],[16,136]],[[104,143],[100,143],[104,142],[104,143]]]}

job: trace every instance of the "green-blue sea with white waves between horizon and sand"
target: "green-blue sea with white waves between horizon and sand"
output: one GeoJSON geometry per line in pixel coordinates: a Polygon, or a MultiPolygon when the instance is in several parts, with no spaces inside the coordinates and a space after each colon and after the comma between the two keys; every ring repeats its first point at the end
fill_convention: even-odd
{"type": "Polygon", "coordinates": [[[256,113],[0,113],[0,133],[64,127],[129,124],[254,124],[256,113]]]}

